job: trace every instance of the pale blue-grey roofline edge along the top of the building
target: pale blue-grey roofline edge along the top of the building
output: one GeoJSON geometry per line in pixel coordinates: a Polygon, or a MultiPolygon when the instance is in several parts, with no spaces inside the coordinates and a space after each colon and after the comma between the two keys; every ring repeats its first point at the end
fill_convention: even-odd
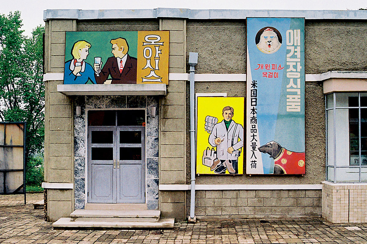
{"type": "Polygon", "coordinates": [[[197,10],[188,8],[77,10],[48,9],[43,20],[49,19],[246,19],[246,17],[300,17],[306,19],[367,19],[363,10],[197,10]]]}

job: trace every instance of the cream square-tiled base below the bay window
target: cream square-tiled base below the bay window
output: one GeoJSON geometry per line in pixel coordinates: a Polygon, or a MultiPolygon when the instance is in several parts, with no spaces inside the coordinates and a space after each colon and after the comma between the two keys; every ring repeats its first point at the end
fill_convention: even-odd
{"type": "Polygon", "coordinates": [[[322,182],[322,216],[331,223],[367,223],[366,183],[322,182]]]}

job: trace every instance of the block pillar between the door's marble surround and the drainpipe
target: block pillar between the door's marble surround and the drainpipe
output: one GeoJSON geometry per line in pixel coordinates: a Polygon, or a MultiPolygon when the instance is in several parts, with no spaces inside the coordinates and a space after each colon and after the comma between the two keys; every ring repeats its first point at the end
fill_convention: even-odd
{"type": "MultiPolygon", "coordinates": [[[[160,31],[170,31],[170,73],[186,72],[186,20],[160,19],[160,31]]],[[[170,80],[160,100],[160,184],[186,184],[186,81],[170,80]]],[[[186,218],[186,192],[160,191],[159,209],[166,218],[186,218]]]]}

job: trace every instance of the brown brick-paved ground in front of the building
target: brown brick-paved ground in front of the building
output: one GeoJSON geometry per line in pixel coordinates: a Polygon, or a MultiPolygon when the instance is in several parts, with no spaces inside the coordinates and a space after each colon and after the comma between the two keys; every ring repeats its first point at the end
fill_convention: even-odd
{"type": "Polygon", "coordinates": [[[1,204],[0,243],[367,243],[367,225],[247,219],[181,222],[173,230],[53,230],[43,209],[1,204]]]}

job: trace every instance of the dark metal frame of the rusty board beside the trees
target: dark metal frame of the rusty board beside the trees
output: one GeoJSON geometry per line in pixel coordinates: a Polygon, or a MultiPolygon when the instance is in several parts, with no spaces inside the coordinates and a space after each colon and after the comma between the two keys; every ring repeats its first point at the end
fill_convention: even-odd
{"type": "Polygon", "coordinates": [[[23,147],[23,169],[1,169],[0,172],[4,175],[4,193],[2,195],[6,194],[17,194],[16,191],[23,186],[23,194],[24,194],[24,204],[26,204],[26,179],[25,179],[25,171],[26,171],[26,160],[25,160],[25,152],[26,152],[26,131],[27,131],[27,123],[26,122],[0,122],[0,124],[4,125],[4,145],[0,145],[0,147],[23,147]],[[23,146],[19,145],[5,145],[5,139],[6,139],[6,125],[24,125],[23,127],[23,146]],[[20,186],[17,190],[15,190],[12,193],[6,192],[6,173],[7,172],[13,172],[13,171],[23,171],[23,185],[20,186]]]}

